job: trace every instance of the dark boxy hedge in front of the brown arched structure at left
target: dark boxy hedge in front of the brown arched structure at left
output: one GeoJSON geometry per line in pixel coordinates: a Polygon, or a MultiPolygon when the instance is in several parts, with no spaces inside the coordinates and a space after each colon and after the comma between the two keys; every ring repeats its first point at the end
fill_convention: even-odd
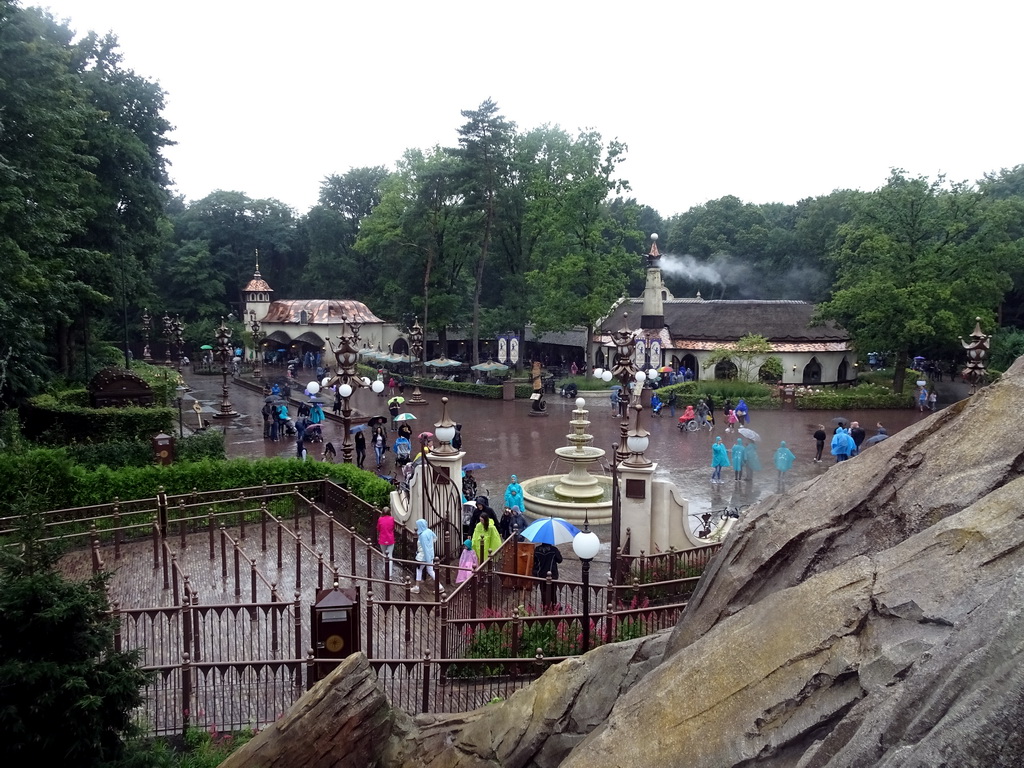
{"type": "Polygon", "coordinates": [[[88,408],[76,404],[85,390],[38,394],[26,406],[24,419],[29,436],[44,444],[148,439],[170,432],[173,409],[129,406],[88,408]]]}

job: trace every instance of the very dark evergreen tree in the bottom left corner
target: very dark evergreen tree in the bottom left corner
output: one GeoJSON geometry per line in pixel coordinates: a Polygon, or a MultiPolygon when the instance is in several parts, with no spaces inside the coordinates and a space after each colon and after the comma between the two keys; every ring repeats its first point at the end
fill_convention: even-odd
{"type": "Polygon", "coordinates": [[[115,648],[103,579],[65,579],[40,532],[0,553],[0,762],[106,766],[148,676],[137,652],[115,648]]]}

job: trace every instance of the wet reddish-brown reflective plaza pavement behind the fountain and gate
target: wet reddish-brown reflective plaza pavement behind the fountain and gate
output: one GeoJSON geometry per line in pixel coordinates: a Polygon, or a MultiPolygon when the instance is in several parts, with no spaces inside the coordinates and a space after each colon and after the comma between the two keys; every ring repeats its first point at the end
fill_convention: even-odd
{"type": "MultiPolygon", "coordinates": [[[[184,403],[185,424],[196,423],[196,415],[191,413],[191,402],[188,397],[195,397],[206,407],[204,416],[210,419],[212,413],[219,411],[220,377],[200,376],[185,373],[186,381],[193,387],[193,392],[186,396],[184,403]]],[[[311,378],[311,376],[310,376],[311,378]]],[[[306,381],[300,378],[299,381],[306,381]]],[[[304,385],[296,385],[293,390],[302,393],[304,385]]],[[[406,396],[412,394],[407,388],[406,396]]],[[[591,424],[588,432],[594,435],[593,445],[611,454],[612,445],[617,442],[620,420],[612,418],[609,398],[606,395],[594,395],[588,399],[591,424]]],[[[441,393],[424,392],[427,406],[408,409],[417,420],[413,424],[414,436],[422,431],[433,431],[434,422],[440,420],[441,393]]],[[[210,419],[215,426],[223,426],[227,455],[229,457],[294,457],[297,455],[294,439],[271,442],[263,439],[262,416],[263,396],[238,384],[231,384],[229,398],[241,416],[237,419],[210,419]]],[[[386,397],[380,397],[370,390],[359,390],[352,396],[352,407],[362,416],[388,416],[386,397]]],[[[547,399],[546,417],[530,416],[530,403],[527,400],[502,401],[488,400],[465,395],[449,395],[449,415],[463,425],[464,461],[479,462],[486,469],[477,470],[474,474],[480,487],[480,493],[493,500],[501,499],[510,474],[517,474],[520,479],[543,474],[553,474],[563,471],[557,465],[554,450],[567,445],[566,435],[572,430],[569,419],[574,401],[550,396],[547,399]]],[[[330,410],[330,401],[326,406],[330,410]]],[[[294,418],[295,407],[290,411],[294,418]]],[[[678,416],[677,412],[677,416],[678,416]]],[[[725,470],[723,478],[726,483],[713,485],[711,477],[711,445],[715,436],[721,436],[729,447],[735,442],[736,433],[726,433],[722,423],[721,413],[717,414],[719,424],[714,432],[701,430],[698,432],[682,432],[676,426],[676,420],[665,409],[663,416],[651,416],[649,411],[641,414],[642,424],[651,433],[650,447],[647,458],[657,464],[655,475],[672,480],[681,489],[684,497],[690,500],[690,512],[699,513],[710,509],[721,509],[726,505],[750,504],[765,495],[776,492],[776,472],[772,456],[778,447],[779,440],[785,440],[788,447],[797,455],[793,469],[787,473],[790,486],[802,480],[826,472],[835,461],[828,456],[828,444],[820,464],[813,462],[815,443],[812,434],[818,424],[824,424],[830,436],[833,420],[844,417],[859,421],[867,431],[868,437],[876,433],[874,425],[881,422],[889,434],[895,434],[901,429],[916,424],[930,414],[919,413],[916,409],[898,411],[871,410],[837,413],[833,411],[755,411],[751,414],[750,428],[761,435],[758,453],[762,471],[755,473],[753,482],[735,483],[732,471],[725,470]]],[[[394,434],[389,433],[389,443],[393,442],[394,434]]],[[[324,424],[325,441],[333,442],[338,449],[338,461],[341,461],[342,426],[340,423],[328,421],[324,424]]],[[[308,460],[319,460],[322,444],[306,443],[308,460]]],[[[870,447],[866,449],[867,451],[870,447]]],[[[415,451],[415,446],[414,446],[415,451]]],[[[369,452],[367,468],[373,469],[373,452],[369,452]]],[[[388,452],[383,472],[392,468],[393,455],[388,452]]],[[[595,472],[599,465],[593,465],[595,472]]],[[[567,471],[564,470],[564,471],[567,471]]],[[[500,502],[498,502],[500,504],[500,502]]],[[[494,504],[494,502],[493,502],[494,504]]]]}

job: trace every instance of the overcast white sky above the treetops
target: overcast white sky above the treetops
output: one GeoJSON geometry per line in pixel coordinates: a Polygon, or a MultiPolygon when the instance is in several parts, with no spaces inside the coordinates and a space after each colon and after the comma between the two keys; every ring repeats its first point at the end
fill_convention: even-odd
{"type": "Polygon", "coordinates": [[[178,191],[276,198],[455,145],[493,98],[521,129],[629,145],[670,216],[724,195],[795,203],[891,167],[975,181],[1024,163],[1024,4],[1001,0],[23,0],[114,32],[161,83],[178,191]]]}

